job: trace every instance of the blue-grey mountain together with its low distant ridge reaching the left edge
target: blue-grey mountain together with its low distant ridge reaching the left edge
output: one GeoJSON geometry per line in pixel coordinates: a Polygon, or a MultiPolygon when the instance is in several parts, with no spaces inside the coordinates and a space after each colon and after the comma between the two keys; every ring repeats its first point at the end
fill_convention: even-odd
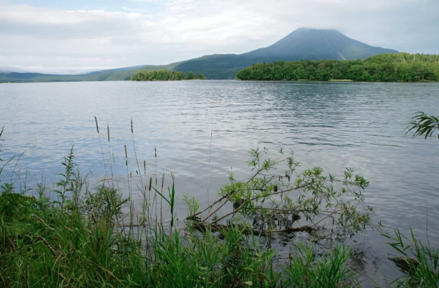
{"type": "Polygon", "coordinates": [[[383,53],[397,53],[392,49],[372,47],[348,38],[335,29],[299,28],[269,47],[242,54],[214,54],[168,65],[144,65],[84,75],[46,75],[40,73],[0,73],[0,82],[51,81],[116,81],[130,80],[141,70],[167,69],[185,73],[202,73],[207,79],[234,79],[237,71],[254,63],[277,60],[355,60],[383,53]]]}

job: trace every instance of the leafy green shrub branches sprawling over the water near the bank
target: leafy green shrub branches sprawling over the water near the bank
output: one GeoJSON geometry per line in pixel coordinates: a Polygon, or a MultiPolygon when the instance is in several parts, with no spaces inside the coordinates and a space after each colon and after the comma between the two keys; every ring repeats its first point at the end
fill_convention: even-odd
{"type": "MultiPolygon", "coordinates": [[[[304,231],[318,242],[341,241],[372,228],[369,215],[372,208],[368,206],[361,212],[355,205],[364,202],[362,191],[369,183],[354,175],[353,169],[346,169],[340,180],[331,174],[324,176],[320,167],[297,173],[299,163],[292,154],[285,157],[281,149],[279,158],[273,160],[267,158],[266,153],[266,150],[252,149],[248,165],[254,175],[246,182],[230,177],[230,184],[221,189],[222,197],[189,219],[209,211],[209,215],[203,217],[204,226],[216,227],[219,221],[226,221],[250,227],[255,235],[304,231]],[[285,164],[285,170],[278,173],[281,164],[285,164]],[[215,217],[227,202],[233,203],[233,211],[215,217]],[[298,226],[298,219],[305,222],[298,226]]],[[[195,224],[200,226],[199,221],[195,224]]]]}

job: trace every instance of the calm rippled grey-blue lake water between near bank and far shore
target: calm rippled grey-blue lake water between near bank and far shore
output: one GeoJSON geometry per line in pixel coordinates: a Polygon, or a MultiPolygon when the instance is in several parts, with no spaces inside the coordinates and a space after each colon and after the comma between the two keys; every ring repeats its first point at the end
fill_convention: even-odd
{"type": "MultiPolygon", "coordinates": [[[[50,186],[62,172],[64,154],[75,145],[76,163],[83,172],[91,172],[88,179],[104,178],[96,116],[104,152],[110,126],[110,149],[123,182],[124,145],[130,171],[135,175],[137,169],[132,118],[141,170],[146,160],[148,175],[163,170],[176,175],[180,217],[186,215],[183,193],[195,196],[201,206],[207,202],[209,154],[212,201],[230,171],[237,179],[250,175],[246,167],[250,147],[266,147],[273,155],[284,147],[294,150],[303,169],[318,165],[342,176],[344,168],[353,167],[366,177],[370,181],[366,203],[375,208],[374,219],[381,220],[386,230],[398,227],[407,233],[412,226],[420,239],[426,239],[428,211],[429,241],[438,247],[439,140],[405,134],[416,111],[439,114],[439,84],[0,84],[2,158],[24,152],[1,177],[18,186],[27,173],[27,187],[42,179],[50,186]]],[[[394,252],[378,232],[355,237],[355,247],[364,275],[381,281],[383,273],[398,273],[387,259],[394,252]]]]}

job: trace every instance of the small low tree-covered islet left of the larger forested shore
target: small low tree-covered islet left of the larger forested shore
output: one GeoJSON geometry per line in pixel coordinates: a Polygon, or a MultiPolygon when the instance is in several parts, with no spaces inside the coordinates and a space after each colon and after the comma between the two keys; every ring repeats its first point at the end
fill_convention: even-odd
{"type": "Polygon", "coordinates": [[[183,73],[180,71],[167,70],[142,70],[131,76],[131,81],[172,81],[172,80],[204,80],[206,77],[202,74],[193,72],[183,73]]]}

